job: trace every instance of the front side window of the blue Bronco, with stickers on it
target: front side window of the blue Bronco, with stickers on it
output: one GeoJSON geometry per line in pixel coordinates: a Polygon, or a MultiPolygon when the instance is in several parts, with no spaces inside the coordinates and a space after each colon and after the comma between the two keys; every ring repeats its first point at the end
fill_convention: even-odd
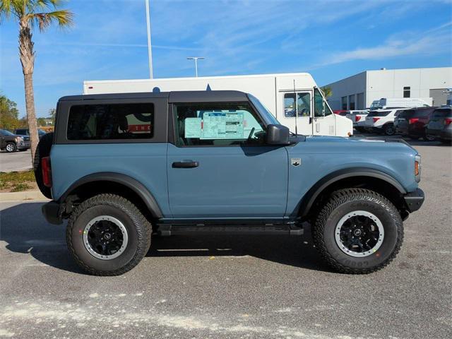
{"type": "Polygon", "coordinates": [[[266,129],[248,102],[174,105],[178,146],[261,145],[266,129]]]}

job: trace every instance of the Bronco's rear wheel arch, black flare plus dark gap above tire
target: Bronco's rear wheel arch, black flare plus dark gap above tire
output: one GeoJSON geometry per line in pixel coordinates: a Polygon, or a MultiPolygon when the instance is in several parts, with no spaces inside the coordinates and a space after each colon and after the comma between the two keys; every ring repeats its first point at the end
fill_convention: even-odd
{"type": "MultiPolygon", "coordinates": [[[[60,203],[71,201],[71,197],[90,198],[96,194],[113,193],[129,198],[138,208],[145,210],[152,218],[162,218],[162,210],[153,194],[136,179],[116,172],[97,172],[88,174],[69,186],[58,199],[60,203]]],[[[68,210],[69,206],[66,206],[68,210]]]]}

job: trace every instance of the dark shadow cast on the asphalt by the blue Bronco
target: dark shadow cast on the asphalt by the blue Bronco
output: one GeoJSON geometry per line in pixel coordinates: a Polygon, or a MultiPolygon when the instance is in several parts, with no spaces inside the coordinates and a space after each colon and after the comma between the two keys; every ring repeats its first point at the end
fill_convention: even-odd
{"type": "MultiPolygon", "coordinates": [[[[0,240],[9,251],[30,254],[45,265],[73,273],[78,268],[66,247],[66,225],[51,225],[41,214],[43,203],[20,203],[0,212],[0,240]]],[[[309,270],[330,271],[311,241],[289,235],[187,235],[153,237],[148,257],[251,256],[309,270]]]]}

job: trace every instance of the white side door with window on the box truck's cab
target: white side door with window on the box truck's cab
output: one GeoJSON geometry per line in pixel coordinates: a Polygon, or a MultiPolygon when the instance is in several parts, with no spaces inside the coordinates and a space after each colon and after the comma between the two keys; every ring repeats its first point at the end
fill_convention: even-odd
{"type": "Polygon", "coordinates": [[[312,134],[312,91],[297,90],[291,92],[280,92],[280,102],[283,102],[283,114],[278,114],[278,121],[289,127],[292,133],[305,136],[312,134]]]}

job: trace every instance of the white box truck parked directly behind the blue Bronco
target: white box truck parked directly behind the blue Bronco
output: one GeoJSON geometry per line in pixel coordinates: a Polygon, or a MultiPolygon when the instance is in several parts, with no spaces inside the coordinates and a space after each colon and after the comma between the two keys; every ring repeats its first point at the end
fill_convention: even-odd
{"type": "Polygon", "coordinates": [[[257,97],[293,133],[295,120],[299,134],[351,136],[353,133],[352,121],[333,114],[308,73],[83,82],[83,94],[172,90],[240,90],[257,97]]]}

